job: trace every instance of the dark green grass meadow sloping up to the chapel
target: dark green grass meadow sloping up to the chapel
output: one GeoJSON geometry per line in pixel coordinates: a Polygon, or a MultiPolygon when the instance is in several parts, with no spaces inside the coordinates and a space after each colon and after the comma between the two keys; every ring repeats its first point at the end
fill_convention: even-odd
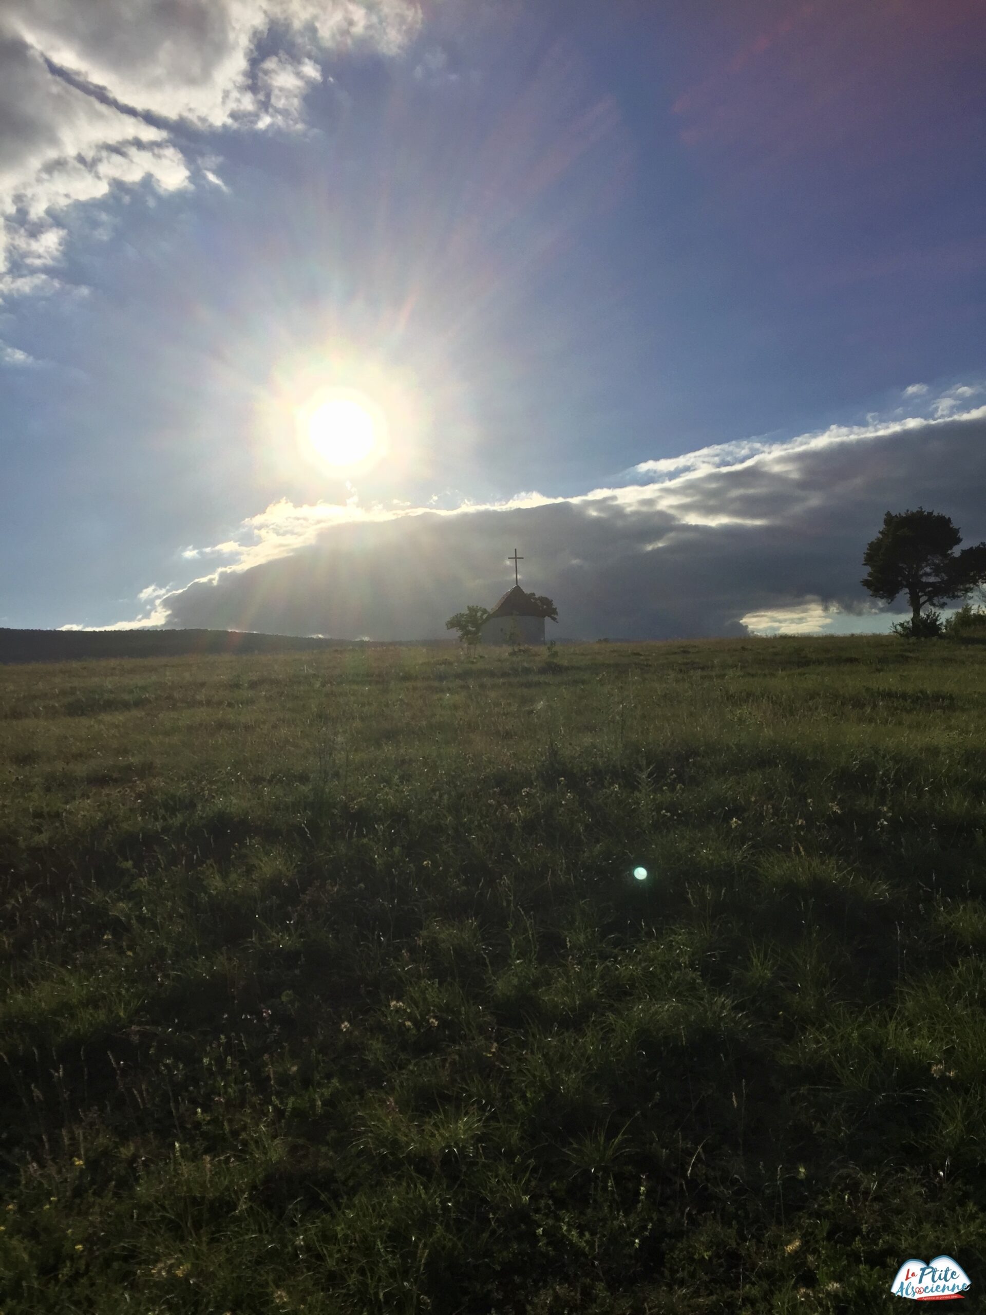
{"type": "Polygon", "coordinates": [[[986,647],[8,667],[0,797],[3,1315],[983,1308],[986,647]]]}

